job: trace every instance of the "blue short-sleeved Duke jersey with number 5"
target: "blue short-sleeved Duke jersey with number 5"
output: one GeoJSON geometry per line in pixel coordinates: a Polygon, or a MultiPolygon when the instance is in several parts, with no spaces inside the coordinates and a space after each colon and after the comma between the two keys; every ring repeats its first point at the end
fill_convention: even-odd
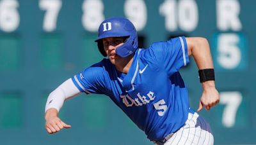
{"type": "Polygon", "coordinates": [[[156,141],[188,118],[188,90],[179,73],[188,63],[186,38],[179,37],[136,50],[127,74],[103,59],[72,81],[81,92],[108,95],[148,139],[156,141]]]}

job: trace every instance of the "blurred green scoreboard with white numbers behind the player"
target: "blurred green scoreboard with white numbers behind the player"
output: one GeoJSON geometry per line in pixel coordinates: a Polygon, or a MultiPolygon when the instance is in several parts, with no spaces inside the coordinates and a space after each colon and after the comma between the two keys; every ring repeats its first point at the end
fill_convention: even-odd
{"type": "MultiPolygon", "coordinates": [[[[102,59],[100,22],[126,17],[140,47],[175,36],[208,39],[220,103],[200,114],[214,144],[256,144],[256,1],[0,0],[0,144],[153,144],[105,95],[79,95],[60,117],[70,129],[49,135],[44,106],[66,79],[102,59]]],[[[180,70],[197,109],[195,61],[180,70]]]]}

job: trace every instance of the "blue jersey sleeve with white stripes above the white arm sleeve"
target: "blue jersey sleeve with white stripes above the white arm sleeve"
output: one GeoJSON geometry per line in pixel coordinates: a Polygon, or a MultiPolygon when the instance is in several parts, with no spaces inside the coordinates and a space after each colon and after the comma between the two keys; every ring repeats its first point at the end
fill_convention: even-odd
{"type": "Polygon", "coordinates": [[[99,64],[95,64],[72,77],[72,81],[80,92],[104,93],[104,73],[99,64]]]}

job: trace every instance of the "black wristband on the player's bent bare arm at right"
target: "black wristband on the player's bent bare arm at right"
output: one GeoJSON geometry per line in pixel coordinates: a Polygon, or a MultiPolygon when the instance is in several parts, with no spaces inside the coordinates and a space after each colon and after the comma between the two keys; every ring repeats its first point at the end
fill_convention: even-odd
{"type": "Polygon", "coordinates": [[[214,69],[200,69],[198,71],[200,83],[215,80],[214,69]]]}

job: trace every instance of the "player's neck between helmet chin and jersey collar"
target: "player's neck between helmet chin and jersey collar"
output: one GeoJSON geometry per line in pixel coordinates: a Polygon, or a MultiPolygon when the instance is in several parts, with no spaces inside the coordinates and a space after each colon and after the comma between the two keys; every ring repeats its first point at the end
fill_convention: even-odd
{"type": "Polygon", "coordinates": [[[115,67],[117,71],[123,72],[125,74],[128,73],[131,64],[132,64],[133,56],[130,55],[128,57],[122,58],[120,60],[115,61],[115,67]]]}

